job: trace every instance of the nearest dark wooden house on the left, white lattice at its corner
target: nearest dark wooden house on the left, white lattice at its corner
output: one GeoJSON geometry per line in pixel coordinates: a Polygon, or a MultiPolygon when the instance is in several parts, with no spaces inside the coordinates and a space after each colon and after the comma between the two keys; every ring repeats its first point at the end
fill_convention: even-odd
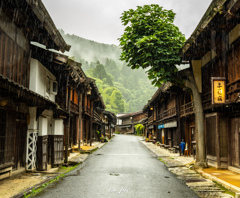
{"type": "Polygon", "coordinates": [[[57,107],[54,94],[46,98],[30,90],[30,43],[62,52],[70,46],[41,1],[1,1],[0,16],[0,170],[4,173],[35,168],[38,128],[32,121],[39,116],[39,109],[57,107]]]}

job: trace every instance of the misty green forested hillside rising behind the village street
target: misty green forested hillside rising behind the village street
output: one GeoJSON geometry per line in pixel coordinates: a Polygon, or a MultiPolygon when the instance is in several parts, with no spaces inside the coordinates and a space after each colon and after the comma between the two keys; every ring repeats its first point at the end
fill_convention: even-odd
{"type": "Polygon", "coordinates": [[[118,46],[60,32],[72,46],[68,55],[81,62],[86,75],[96,80],[108,111],[139,111],[156,91],[144,70],[131,70],[119,60],[118,46]]]}

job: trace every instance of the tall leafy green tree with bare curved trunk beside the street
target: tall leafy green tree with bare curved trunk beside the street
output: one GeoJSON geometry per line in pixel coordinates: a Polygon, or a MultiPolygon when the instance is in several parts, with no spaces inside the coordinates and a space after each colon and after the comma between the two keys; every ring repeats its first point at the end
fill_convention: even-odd
{"type": "Polygon", "coordinates": [[[125,27],[119,38],[121,60],[132,69],[147,69],[149,79],[160,86],[164,82],[191,89],[194,101],[197,130],[196,166],[206,166],[204,117],[202,101],[192,73],[179,79],[176,64],[181,63],[180,50],[184,35],[173,24],[175,13],[159,5],[138,6],[136,10],[123,12],[121,21],[125,27]]]}

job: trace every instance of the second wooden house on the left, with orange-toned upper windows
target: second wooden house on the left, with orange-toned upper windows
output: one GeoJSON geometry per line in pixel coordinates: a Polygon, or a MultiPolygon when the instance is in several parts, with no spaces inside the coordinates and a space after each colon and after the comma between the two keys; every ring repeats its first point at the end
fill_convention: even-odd
{"type": "MultiPolygon", "coordinates": [[[[81,64],[69,59],[67,56],[56,52],[44,50],[42,48],[32,47],[33,57],[39,56],[38,60],[56,76],[56,102],[58,108],[53,110],[53,118],[63,120],[62,135],[48,134],[48,158],[51,159],[52,166],[61,163],[56,157],[60,156],[65,149],[65,161],[69,152],[80,150],[80,133],[82,126],[82,94],[88,86],[87,78],[81,69],[81,64]],[[64,137],[63,137],[64,132],[64,137]],[[62,141],[64,139],[64,142],[62,141]],[[61,146],[53,145],[61,142],[61,146]],[[67,148],[67,149],[66,149],[67,148]],[[59,155],[56,155],[58,153],[59,155]]],[[[52,119],[53,119],[52,118],[52,119]]],[[[51,123],[49,121],[49,123],[51,123]]],[[[54,126],[54,125],[53,125],[54,126]]],[[[50,130],[52,131],[52,130],[50,130]]],[[[63,156],[61,155],[61,159],[63,156]]]]}

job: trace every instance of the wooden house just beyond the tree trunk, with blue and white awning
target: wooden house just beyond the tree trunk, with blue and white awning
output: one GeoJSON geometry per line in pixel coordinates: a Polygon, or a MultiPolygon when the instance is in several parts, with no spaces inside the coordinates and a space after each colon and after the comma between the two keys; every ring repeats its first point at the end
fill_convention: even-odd
{"type": "MultiPolygon", "coordinates": [[[[171,83],[163,84],[153,95],[143,111],[148,111],[148,130],[154,123],[153,139],[159,141],[166,148],[179,148],[181,142],[179,91],[171,83]]],[[[147,134],[148,137],[148,134],[147,134]]]]}

